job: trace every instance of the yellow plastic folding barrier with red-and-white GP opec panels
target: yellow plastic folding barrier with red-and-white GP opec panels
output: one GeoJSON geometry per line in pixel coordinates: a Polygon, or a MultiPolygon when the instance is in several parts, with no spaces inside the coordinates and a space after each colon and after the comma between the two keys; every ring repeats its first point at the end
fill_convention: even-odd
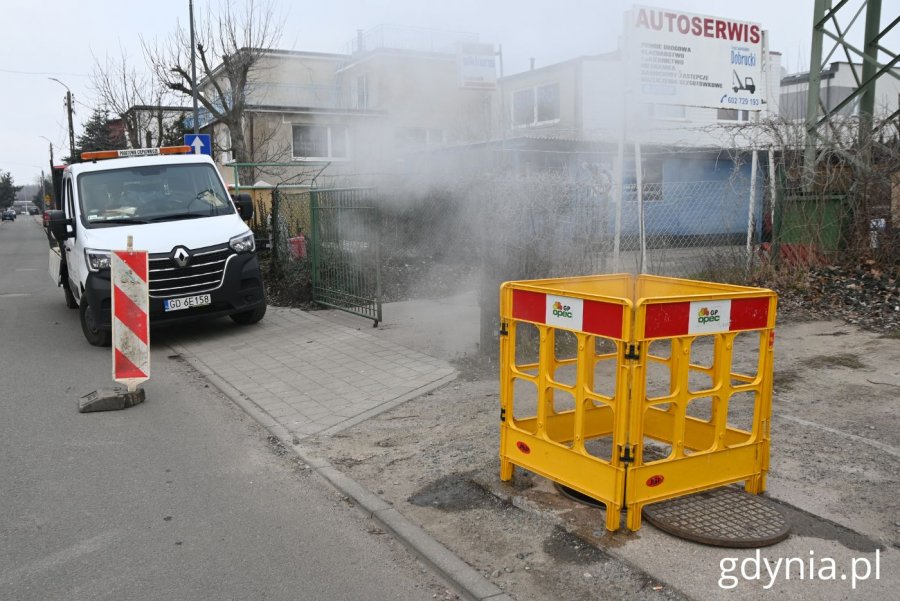
{"type": "Polygon", "coordinates": [[[775,293],[605,275],[500,294],[502,480],[520,466],[597,499],[609,530],[625,507],[637,530],[647,503],[765,489],[775,293]]]}

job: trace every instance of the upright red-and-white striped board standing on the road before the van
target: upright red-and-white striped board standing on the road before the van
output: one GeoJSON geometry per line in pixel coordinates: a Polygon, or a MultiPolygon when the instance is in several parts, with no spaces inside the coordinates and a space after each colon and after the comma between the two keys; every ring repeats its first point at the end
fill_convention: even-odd
{"type": "Polygon", "coordinates": [[[114,250],[110,271],[113,380],[133,392],[150,378],[149,255],[145,250],[114,250]]]}

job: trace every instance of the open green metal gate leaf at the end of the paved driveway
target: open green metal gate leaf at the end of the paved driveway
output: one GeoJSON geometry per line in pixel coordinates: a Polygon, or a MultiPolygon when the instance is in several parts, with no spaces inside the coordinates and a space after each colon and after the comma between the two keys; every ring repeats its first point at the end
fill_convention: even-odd
{"type": "Polygon", "coordinates": [[[313,300],[381,322],[381,258],[374,188],[310,191],[313,300]]]}

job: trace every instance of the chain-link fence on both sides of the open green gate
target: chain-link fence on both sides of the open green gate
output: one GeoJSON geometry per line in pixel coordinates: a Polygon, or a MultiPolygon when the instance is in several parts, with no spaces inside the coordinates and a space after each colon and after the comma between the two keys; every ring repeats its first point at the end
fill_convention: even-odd
{"type": "MultiPolygon", "coordinates": [[[[608,182],[572,183],[553,173],[382,181],[366,227],[379,240],[384,299],[614,272],[711,279],[718,270],[727,279],[746,270],[770,235],[762,178],[756,186],[739,175],[644,184],[640,191],[632,184],[621,209],[617,196],[608,182]]],[[[271,215],[263,198],[257,221],[270,229],[274,272],[296,272],[305,260],[298,237],[312,252],[311,189],[278,188],[271,198],[271,215]]]]}

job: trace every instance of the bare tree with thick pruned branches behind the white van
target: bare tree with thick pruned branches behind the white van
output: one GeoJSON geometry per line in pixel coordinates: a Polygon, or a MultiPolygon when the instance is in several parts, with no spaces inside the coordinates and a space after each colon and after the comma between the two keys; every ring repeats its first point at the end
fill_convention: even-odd
{"type": "MultiPolygon", "coordinates": [[[[197,27],[197,99],[212,120],[228,128],[230,151],[237,162],[252,162],[252,145],[245,127],[248,96],[263,58],[281,38],[281,20],[272,0],[248,0],[242,9],[229,1],[217,14],[200,19],[197,27]]],[[[144,53],[156,77],[166,88],[190,98],[190,33],[179,24],[169,39],[159,44],[144,42],[144,53]]]]}

